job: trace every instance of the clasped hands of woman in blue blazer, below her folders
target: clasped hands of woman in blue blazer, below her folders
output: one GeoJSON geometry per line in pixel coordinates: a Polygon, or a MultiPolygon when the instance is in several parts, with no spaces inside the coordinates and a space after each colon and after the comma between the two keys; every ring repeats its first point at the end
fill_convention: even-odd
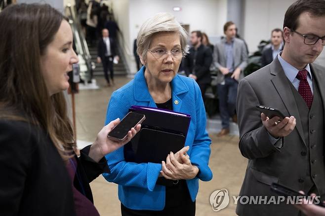
{"type": "Polygon", "coordinates": [[[165,179],[170,180],[190,180],[194,179],[198,173],[199,168],[191,164],[190,158],[184,154],[180,155],[183,163],[179,163],[173,152],[170,152],[166,158],[166,163],[162,161],[161,174],[165,179]]]}

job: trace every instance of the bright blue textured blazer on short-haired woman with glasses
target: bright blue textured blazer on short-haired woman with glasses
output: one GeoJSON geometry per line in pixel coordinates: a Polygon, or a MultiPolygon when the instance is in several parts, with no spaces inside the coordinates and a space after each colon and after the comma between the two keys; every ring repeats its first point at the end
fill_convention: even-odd
{"type": "MultiPolygon", "coordinates": [[[[144,71],[143,66],[133,80],[113,92],[105,125],[116,118],[122,119],[132,105],[157,107],[149,93],[144,71]]],[[[208,167],[211,140],[205,130],[205,109],[200,88],[194,79],[176,75],[171,81],[171,88],[173,110],[192,116],[185,146],[190,146],[188,154],[191,163],[200,170],[197,177],[187,180],[194,201],[199,190],[199,179],[212,179],[212,172],[208,167]]],[[[124,206],[133,210],[160,211],[164,208],[165,186],[156,185],[162,170],[161,164],[126,162],[123,147],[107,154],[106,159],[111,173],[103,176],[106,180],[119,184],[119,199],[124,206]]]]}

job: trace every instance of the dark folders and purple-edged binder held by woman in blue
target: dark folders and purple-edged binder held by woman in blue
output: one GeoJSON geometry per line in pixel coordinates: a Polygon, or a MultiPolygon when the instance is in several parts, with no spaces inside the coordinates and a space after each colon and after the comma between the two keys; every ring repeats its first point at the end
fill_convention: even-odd
{"type": "Polygon", "coordinates": [[[191,116],[166,109],[132,106],[129,111],[144,114],[141,130],[124,146],[124,159],[135,163],[161,163],[172,151],[184,147],[191,116]]]}

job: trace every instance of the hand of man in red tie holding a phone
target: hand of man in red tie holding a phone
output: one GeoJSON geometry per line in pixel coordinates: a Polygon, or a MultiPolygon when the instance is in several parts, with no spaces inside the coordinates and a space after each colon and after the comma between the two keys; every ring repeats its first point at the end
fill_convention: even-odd
{"type": "Polygon", "coordinates": [[[279,119],[279,116],[274,116],[270,119],[264,113],[261,113],[261,120],[264,127],[274,138],[289,135],[296,126],[296,119],[294,116],[285,117],[281,122],[278,123],[279,119]]]}

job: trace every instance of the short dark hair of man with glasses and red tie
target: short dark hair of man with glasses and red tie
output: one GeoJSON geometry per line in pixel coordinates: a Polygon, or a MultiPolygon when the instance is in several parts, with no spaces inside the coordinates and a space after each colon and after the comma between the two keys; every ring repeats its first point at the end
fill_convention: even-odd
{"type": "Polygon", "coordinates": [[[312,16],[325,16],[325,0],[297,0],[285,12],[283,28],[298,28],[300,14],[309,12],[312,16]]]}

